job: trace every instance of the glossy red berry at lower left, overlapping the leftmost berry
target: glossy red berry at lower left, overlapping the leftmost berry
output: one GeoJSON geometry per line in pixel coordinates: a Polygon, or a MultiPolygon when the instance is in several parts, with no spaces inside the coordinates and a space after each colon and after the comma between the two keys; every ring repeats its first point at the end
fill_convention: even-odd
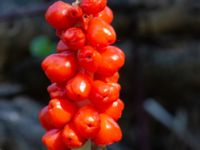
{"type": "Polygon", "coordinates": [[[57,128],[64,127],[77,111],[77,107],[66,99],[50,100],[48,109],[51,123],[57,128]]]}

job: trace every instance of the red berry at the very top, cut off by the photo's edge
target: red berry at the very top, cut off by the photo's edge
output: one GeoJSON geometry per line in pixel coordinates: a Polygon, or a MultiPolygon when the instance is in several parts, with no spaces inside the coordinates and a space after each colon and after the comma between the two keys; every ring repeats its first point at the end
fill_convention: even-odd
{"type": "Polygon", "coordinates": [[[81,0],[80,7],[86,14],[96,14],[102,11],[107,4],[107,0],[81,0]]]}

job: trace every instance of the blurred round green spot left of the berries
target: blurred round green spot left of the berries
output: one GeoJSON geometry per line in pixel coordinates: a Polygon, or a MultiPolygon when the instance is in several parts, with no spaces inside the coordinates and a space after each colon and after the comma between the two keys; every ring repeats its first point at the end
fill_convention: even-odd
{"type": "Polygon", "coordinates": [[[55,51],[56,44],[47,36],[35,37],[30,44],[30,52],[34,57],[46,57],[55,51]]]}

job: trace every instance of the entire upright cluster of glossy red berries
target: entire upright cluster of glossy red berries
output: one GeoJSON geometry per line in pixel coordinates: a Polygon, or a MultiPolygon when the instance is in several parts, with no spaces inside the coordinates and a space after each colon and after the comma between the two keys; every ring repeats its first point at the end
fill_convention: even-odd
{"type": "Polygon", "coordinates": [[[60,38],[56,54],[42,62],[52,84],[51,100],[39,119],[47,130],[42,141],[48,150],[81,147],[88,139],[108,145],[122,138],[117,124],[124,103],[119,99],[118,70],[125,55],[116,46],[107,0],[57,1],[46,21],[60,38]]]}

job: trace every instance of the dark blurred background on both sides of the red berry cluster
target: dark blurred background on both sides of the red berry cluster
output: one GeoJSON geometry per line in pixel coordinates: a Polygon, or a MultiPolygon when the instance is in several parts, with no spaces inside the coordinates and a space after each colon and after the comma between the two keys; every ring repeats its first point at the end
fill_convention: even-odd
{"type": "MultiPolygon", "coordinates": [[[[41,70],[58,39],[44,12],[53,0],[1,0],[0,150],[44,150],[41,70]]],[[[66,1],[71,2],[71,1],[66,1]]],[[[120,125],[108,150],[200,150],[200,1],[108,0],[126,53],[120,125]]]]}

